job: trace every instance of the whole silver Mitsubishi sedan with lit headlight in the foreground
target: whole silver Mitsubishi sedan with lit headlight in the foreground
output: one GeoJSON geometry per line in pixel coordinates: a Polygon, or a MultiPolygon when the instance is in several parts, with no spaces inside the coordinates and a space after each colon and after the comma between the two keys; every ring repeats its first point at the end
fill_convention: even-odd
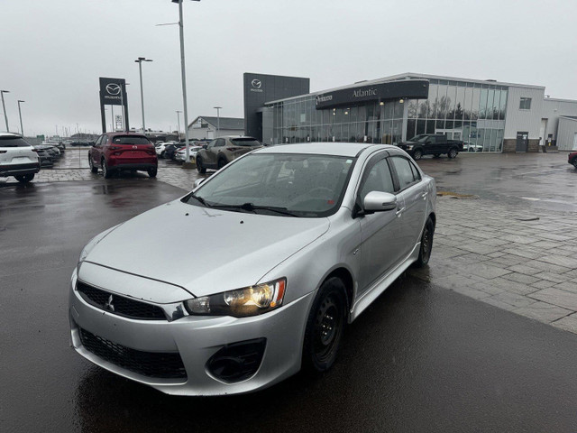
{"type": "Polygon", "coordinates": [[[78,354],[169,394],[260,390],[328,370],[346,324],[429,261],[435,180],[395,146],[261,148],[203,180],[84,247],[78,354]]]}

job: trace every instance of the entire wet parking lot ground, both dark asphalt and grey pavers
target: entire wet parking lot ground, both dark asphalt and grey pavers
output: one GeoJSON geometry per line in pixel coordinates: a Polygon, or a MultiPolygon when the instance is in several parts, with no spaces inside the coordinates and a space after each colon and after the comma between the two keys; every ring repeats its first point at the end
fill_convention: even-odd
{"type": "MultiPolygon", "coordinates": [[[[179,398],[69,347],[68,286],[88,239],[179,198],[197,171],[161,160],[156,179],[105,180],[82,152],[28,186],[0,179],[3,431],[577,428],[577,170],[565,153],[419,161],[442,193],[431,262],[353,322],[331,371],[245,396],[179,398]]],[[[180,228],[202,254],[193,227],[180,228]]]]}

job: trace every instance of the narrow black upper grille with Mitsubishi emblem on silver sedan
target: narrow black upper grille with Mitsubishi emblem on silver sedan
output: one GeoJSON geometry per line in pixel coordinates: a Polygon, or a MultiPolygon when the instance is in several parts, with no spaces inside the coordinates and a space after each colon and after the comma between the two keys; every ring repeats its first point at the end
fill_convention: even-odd
{"type": "Polygon", "coordinates": [[[76,288],[90,305],[97,309],[104,309],[112,314],[124,316],[124,318],[137,318],[141,320],[166,320],[164,310],[158,306],[141,302],[140,300],[125,298],[105,290],[96,289],[84,282],[78,281],[76,288]]]}

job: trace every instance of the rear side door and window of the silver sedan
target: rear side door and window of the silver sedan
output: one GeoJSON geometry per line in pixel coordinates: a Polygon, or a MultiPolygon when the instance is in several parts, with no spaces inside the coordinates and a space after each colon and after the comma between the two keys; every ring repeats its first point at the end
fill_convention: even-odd
{"type": "Polygon", "coordinates": [[[394,170],[397,194],[403,202],[403,207],[398,211],[402,223],[398,233],[403,239],[403,256],[407,256],[419,242],[425,226],[429,190],[412,161],[402,155],[391,156],[389,160],[394,170]]]}

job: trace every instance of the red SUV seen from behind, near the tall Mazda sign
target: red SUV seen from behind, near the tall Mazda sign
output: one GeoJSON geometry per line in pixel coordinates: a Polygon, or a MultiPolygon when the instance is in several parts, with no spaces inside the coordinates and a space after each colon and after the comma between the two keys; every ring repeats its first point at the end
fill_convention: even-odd
{"type": "Polygon", "coordinates": [[[115,170],[144,170],[156,177],[159,160],[154,145],[145,135],[134,133],[106,133],[88,151],[88,163],[93,173],[102,169],[108,179],[115,170]]]}

